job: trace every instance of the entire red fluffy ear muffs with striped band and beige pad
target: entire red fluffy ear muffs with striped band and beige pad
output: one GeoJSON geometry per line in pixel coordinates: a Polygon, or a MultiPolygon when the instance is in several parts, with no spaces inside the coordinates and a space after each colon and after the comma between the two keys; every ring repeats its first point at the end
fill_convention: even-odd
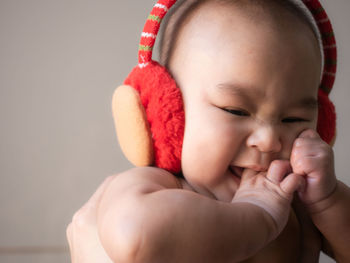
{"type": "MultiPolygon", "coordinates": [[[[154,165],[181,172],[185,113],[180,89],[167,69],[152,60],[160,23],[176,0],[159,0],[144,26],[139,64],[117,88],[112,109],[118,140],[126,157],[137,166],[154,165]],[[136,91],[136,92],[135,92],[136,91]]],[[[335,138],[335,108],[329,100],[336,73],[336,42],[332,25],[319,0],[303,0],[322,36],[324,70],[318,100],[317,131],[331,143],[335,138]]]]}

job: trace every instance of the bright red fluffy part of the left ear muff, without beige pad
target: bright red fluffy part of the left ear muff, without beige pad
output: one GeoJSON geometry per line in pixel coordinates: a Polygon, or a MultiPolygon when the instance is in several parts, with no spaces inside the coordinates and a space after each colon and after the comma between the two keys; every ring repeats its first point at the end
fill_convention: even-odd
{"type": "Polygon", "coordinates": [[[173,173],[181,170],[185,113],[180,89],[168,71],[152,61],[135,67],[125,80],[139,92],[152,134],[154,165],[173,173]]]}

